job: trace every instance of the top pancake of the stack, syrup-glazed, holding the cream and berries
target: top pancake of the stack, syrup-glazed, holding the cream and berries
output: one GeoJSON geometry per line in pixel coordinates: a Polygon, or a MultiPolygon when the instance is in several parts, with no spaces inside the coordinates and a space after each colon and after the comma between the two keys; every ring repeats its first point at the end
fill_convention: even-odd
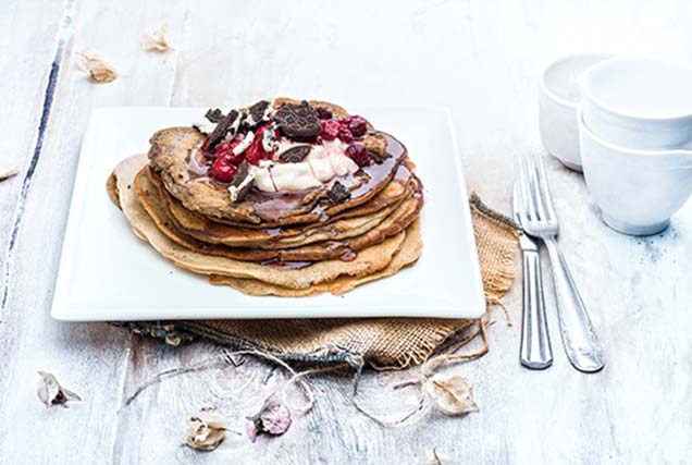
{"type": "MultiPolygon", "coordinates": [[[[279,108],[287,99],[275,100],[279,108]]],[[[311,101],[313,106],[328,107],[338,117],[348,115],[341,107],[311,101]]],[[[382,133],[380,133],[382,134],[382,133]]],[[[160,176],[166,191],[183,206],[215,222],[251,228],[272,228],[288,224],[324,221],[344,210],[362,205],[373,198],[393,180],[406,148],[394,137],[385,135],[387,158],[382,163],[361,168],[357,173],[339,176],[323,186],[298,193],[263,193],[252,189],[242,201],[230,201],[225,185],[206,176],[196,176],[189,169],[190,156],[202,144],[205,135],[194,127],[170,127],[157,132],[150,139],[148,157],[153,171],[160,176]],[[346,201],[332,205],[326,193],[336,182],[351,193],[346,201]]],[[[380,136],[381,137],[381,136],[380,136]]],[[[368,142],[366,140],[366,145],[368,142]]]]}

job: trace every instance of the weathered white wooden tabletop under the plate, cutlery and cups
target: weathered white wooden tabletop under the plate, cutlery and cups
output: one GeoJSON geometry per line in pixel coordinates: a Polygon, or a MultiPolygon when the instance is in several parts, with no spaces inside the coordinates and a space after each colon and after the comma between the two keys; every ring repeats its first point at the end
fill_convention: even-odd
{"type": "MultiPolygon", "coordinates": [[[[0,462],[424,463],[435,449],[455,463],[692,463],[692,207],[658,236],[619,235],[598,220],[583,179],[555,160],[561,243],[605,343],[606,368],[574,371],[549,311],[555,364],[523,369],[520,328],[498,317],[490,354],[449,368],[475,386],[481,412],[465,418],[430,413],[383,429],[350,404],[347,376],[329,377],[312,381],[316,407],[284,437],[251,444],[230,435],[217,451],[198,453],[177,443],[187,414],[215,403],[240,427],[284,374],[248,359],[168,381],[124,407],[138,383],[214,347],[171,350],[108,325],[49,317],[92,108],[239,105],[271,95],[347,108],[448,106],[470,186],[507,210],[511,156],[543,151],[535,118],[543,65],[572,51],[691,60],[691,24],[685,0],[5,0],[0,160],[15,160],[20,174],[0,183],[0,462]],[[161,23],[174,49],[141,51],[143,33],[161,23]],[[122,76],[89,83],[75,66],[82,51],[122,76]],[[45,408],[38,369],[84,402],[45,408]]],[[[516,321],[519,287],[505,299],[516,321]]],[[[547,291],[552,306],[549,283],[547,291]]],[[[369,374],[362,389],[390,412],[403,401],[386,387],[407,376],[369,374]]]]}

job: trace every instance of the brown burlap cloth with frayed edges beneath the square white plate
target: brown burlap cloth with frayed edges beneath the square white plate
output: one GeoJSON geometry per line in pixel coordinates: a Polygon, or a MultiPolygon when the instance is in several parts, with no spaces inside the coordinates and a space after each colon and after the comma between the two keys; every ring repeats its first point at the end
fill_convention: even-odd
{"type": "MultiPolygon", "coordinates": [[[[470,205],[490,308],[499,304],[514,281],[517,229],[510,219],[486,207],[475,194],[471,194],[470,205]]],[[[401,369],[424,362],[475,322],[440,318],[337,318],[115,325],[160,338],[171,345],[201,338],[233,348],[269,352],[282,359],[316,364],[358,359],[375,369],[401,369]]]]}

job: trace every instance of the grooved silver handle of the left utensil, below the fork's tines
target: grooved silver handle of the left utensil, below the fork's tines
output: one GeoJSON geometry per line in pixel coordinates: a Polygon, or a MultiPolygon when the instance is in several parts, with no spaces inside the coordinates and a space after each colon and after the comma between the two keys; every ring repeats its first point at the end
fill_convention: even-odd
{"type": "Polygon", "coordinates": [[[553,364],[553,348],[545,319],[543,280],[537,250],[523,252],[523,313],[521,315],[521,364],[532,369],[553,364]]]}

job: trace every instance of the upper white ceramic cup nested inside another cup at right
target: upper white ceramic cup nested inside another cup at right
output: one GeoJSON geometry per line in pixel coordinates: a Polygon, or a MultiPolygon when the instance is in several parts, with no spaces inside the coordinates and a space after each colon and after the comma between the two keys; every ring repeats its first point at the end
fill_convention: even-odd
{"type": "Polygon", "coordinates": [[[579,78],[585,125],[634,149],[692,147],[692,66],[617,57],[579,78]]]}

